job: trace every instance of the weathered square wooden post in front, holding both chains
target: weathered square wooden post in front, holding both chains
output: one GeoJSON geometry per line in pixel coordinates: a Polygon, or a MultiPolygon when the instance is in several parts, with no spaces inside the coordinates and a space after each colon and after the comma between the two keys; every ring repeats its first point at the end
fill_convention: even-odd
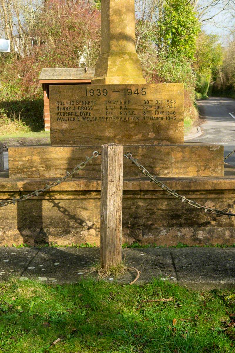
{"type": "Polygon", "coordinates": [[[100,264],[103,269],[122,261],[123,146],[101,147],[100,264]]]}

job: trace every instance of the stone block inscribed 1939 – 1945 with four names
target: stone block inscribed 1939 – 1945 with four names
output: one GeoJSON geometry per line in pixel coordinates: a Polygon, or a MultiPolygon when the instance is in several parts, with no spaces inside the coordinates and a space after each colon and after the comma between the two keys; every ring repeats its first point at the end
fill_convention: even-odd
{"type": "Polygon", "coordinates": [[[184,85],[50,86],[52,145],[184,142],[184,85]]]}

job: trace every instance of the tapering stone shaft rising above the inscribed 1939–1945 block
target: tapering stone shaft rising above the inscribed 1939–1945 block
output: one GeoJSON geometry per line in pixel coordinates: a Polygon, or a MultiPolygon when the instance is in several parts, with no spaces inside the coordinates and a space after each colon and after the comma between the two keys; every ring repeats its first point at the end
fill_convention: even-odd
{"type": "Polygon", "coordinates": [[[92,84],[143,84],[135,48],[135,1],[101,0],[101,54],[92,84]]]}

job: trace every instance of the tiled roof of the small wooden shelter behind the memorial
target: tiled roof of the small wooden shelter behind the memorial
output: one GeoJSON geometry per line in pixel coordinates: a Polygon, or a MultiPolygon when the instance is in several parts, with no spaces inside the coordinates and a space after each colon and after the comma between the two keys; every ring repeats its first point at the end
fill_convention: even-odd
{"type": "Polygon", "coordinates": [[[44,67],[40,73],[39,80],[79,80],[92,79],[95,74],[94,68],[60,68],[44,67]]]}

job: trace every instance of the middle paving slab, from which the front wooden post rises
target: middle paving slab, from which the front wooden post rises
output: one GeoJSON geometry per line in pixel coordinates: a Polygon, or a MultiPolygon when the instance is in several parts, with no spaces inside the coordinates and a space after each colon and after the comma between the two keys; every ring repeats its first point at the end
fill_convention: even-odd
{"type": "MultiPolygon", "coordinates": [[[[99,252],[99,248],[44,247],[22,276],[46,283],[76,283],[84,279],[84,268],[99,259],[99,252]]],[[[130,267],[141,271],[138,283],[148,282],[152,277],[176,281],[168,249],[124,249],[123,256],[130,267]]],[[[135,270],[130,270],[120,282],[129,283],[136,274],[135,270]]]]}

